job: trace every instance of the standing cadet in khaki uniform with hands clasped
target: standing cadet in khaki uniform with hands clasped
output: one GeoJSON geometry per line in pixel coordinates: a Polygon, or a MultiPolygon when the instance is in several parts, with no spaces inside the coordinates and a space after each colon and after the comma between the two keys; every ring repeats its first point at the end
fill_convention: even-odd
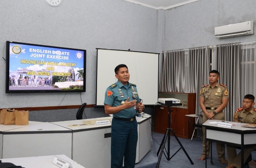
{"type": "MultiPolygon", "coordinates": [[[[219,84],[219,72],[212,70],[209,73],[210,84],[202,86],[200,90],[200,107],[203,111],[202,123],[208,119],[224,120],[223,109],[228,105],[228,90],[225,85],[219,84]]],[[[205,153],[205,128],[203,127],[203,153],[198,160],[203,161],[209,156],[210,144],[207,141],[207,153],[205,153]]],[[[221,163],[227,164],[225,160],[225,144],[216,142],[218,158],[221,163]]]]}

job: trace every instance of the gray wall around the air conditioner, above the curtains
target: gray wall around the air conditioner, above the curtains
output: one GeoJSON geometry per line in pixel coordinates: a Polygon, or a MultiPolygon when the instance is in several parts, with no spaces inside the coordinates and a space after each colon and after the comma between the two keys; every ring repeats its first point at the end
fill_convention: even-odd
{"type": "Polygon", "coordinates": [[[225,39],[214,35],[214,27],[250,20],[255,22],[255,8],[255,0],[199,0],[165,10],[162,51],[255,41],[255,34],[225,39]]]}

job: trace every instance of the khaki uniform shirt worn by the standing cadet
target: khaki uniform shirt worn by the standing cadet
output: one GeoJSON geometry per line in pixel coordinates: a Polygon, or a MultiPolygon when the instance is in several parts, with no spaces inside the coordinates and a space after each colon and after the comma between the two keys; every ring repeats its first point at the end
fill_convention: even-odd
{"type": "Polygon", "coordinates": [[[206,107],[219,107],[222,104],[222,97],[228,98],[228,90],[226,85],[217,83],[213,88],[208,85],[202,86],[200,97],[204,97],[204,105],[206,107]]]}

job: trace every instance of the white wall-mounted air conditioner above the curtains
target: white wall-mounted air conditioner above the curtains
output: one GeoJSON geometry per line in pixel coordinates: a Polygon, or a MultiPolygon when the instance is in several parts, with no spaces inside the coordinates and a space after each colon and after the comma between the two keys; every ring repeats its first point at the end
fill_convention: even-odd
{"type": "Polygon", "coordinates": [[[215,37],[217,38],[227,38],[235,37],[240,35],[250,35],[253,34],[253,21],[247,21],[236,24],[229,24],[225,26],[219,26],[214,28],[215,37]]]}

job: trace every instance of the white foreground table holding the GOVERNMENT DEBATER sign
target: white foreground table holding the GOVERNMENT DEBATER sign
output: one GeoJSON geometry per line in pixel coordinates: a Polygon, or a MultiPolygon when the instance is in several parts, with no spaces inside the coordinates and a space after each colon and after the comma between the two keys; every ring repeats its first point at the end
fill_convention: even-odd
{"type": "MultiPolygon", "coordinates": [[[[10,162],[16,166],[22,166],[25,168],[59,168],[52,163],[55,155],[52,156],[34,156],[34,157],[20,157],[20,158],[6,158],[1,159],[2,162],[10,162]]],[[[73,168],[85,168],[75,161],[71,160],[65,155],[56,155],[57,157],[71,163],[73,168]]]]}

